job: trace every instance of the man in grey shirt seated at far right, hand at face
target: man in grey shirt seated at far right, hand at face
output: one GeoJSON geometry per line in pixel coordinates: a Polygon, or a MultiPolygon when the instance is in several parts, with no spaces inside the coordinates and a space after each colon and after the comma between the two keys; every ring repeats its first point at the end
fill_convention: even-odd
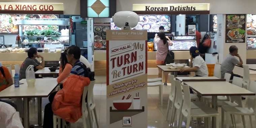
{"type": "Polygon", "coordinates": [[[221,64],[221,78],[223,79],[225,76],[225,73],[229,73],[231,74],[231,80],[233,80],[234,76],[238,76],[237,74],[233,73],[234,67],[235,65],[239,65],[239,66],[243,66],[243,60],[242,58],[239,56],[238,54],[238,48],[235,45],[232,45],[229,47],[229,54],[226,57],[226,59],[222,62],[221,64]],[[239,58],[239,61],[237,59],[237,57],[239,58]]]}

